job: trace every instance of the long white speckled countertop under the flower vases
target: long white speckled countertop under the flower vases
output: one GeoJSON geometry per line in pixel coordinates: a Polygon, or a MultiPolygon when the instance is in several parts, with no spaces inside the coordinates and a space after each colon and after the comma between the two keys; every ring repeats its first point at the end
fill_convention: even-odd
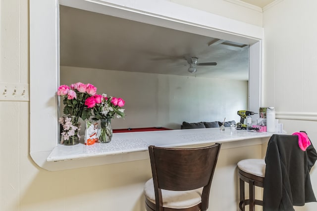
{"type": "Polygon", "coordinates": [[[226,127],[223,131],[219,128],[202,128],[113,133],[112,140],[109,143],[95,143],[89,146],[81,143],[74,146],[58,144],[47,158],[47,161],[67,161],[147,151],[150,145],[178,147],[215,142],[233,142],[270,137],[271,135],[272,133],[269,132],[251,132],[246,130],[231,132],[230,127],[226,127]]]}

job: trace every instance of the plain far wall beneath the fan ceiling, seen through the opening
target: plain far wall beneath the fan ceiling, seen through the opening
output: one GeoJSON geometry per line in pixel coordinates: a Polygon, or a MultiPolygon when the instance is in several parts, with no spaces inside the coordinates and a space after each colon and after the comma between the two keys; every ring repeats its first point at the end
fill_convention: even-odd
{"type": "Polygon", "coordinates": [[[180,129],[183,121],[223,121],[224,117],[239,122],[237,111],[248,107],[247,81],[60,68],[60,84],[76,82],[94,84],[99,94],[126,101],[126,117],[113,119],[113,128],[180,129]]]}

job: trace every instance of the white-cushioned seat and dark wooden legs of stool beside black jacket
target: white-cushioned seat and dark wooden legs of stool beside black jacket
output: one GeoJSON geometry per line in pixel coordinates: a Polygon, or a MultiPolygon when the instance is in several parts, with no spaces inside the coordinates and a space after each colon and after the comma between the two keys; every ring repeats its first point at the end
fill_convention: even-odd
{"type": "Polygon", "coordinates": [[[249,205],[249,211],[255,211],[255,205],[263,206],[262,200],[255,199],[255,186],[264,186],[265,161],[263,159],[245,159],[238,162],[240,178],[240,203],[239,208],[245,211],[249,205]],[[245,182],[249,183],[249,199],[245,199],[245,182]]]}

